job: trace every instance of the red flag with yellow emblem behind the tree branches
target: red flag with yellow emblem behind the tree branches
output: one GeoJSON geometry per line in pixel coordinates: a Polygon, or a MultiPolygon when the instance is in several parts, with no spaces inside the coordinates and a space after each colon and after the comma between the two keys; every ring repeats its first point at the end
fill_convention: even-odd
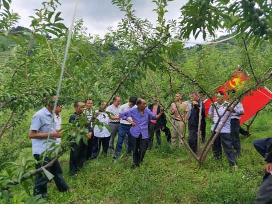
{"type": "MultiPolygon", "coordinates": [[[[239,90],[241,86],[245,83],[245,80],[248,80],[249,77],[245,77],[244,72],[237,72],[237,75],[232,77],[229,81],[227,81],[224,85],[222,85],[217,91],[223,91],[225,96],[227,96],[226,91],[229,89],[239,90]]],[[[249,120],[255,113],[257,113],[260,109],[262,109],[270,100],[272,99],[272,92],[266,88],[262,87],[257,91],[251,91],[251,94],[248,94],[243,98],[241,103],[243,104],[245,115],[241,116],[240,124],[245,123],[249,120]]],[[[216,102],[215,98],[213,101],[216,102]]],[[[209,108],[211,107],[212,101],[208,99],[204,102],[205,104],[205,113],[206,116],[209,112],[209,108]]]]}

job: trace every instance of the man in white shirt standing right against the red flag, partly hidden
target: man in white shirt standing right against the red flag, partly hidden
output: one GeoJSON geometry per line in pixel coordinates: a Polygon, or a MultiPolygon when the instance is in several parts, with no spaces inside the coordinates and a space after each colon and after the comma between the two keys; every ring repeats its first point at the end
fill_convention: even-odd
{"type": "MultiPolygon", "coordinates": [[[[228,95],[235,94],[235,93],[236,91],[234,89],[231,89],[228,91],[228,95]]],[[[244,112],[243,105],[240,102],[236,105],[236,108],[240,111],[240,114],[238,115],[236,113],[232,113],[231,115],[231,136],[233,140],[235,155],[239,157],[241,156],[241,142],[239,137],[240,118],[241,118],[241,115],[245,114],[245,112],[244,112]]]]}

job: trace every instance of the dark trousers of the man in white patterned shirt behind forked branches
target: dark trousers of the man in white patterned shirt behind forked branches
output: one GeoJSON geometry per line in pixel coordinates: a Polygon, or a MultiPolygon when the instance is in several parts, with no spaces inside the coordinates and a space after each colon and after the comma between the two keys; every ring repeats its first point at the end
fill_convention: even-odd
{"type": "MultiPolygon", "coordinates": [[[[216,134],[216,132],[215,132],[216,134]]],[[[233,141],[231,138],[231,133],[219,133],[217,136],[212,149],[214,152],[214,158],[215,159],[221,159],[222,158],[222,146],[224,148],[225,154],[230,162],[230,165],[235,165],[236,164],[236,157],[234,153],[234,148],[233,148],[233,141]]]]}

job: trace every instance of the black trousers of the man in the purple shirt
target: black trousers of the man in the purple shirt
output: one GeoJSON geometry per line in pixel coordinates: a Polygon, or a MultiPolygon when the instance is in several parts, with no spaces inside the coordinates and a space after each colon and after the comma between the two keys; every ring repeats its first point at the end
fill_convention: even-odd
{"type": "Polygon", "coordinates": [[[139,135],[138,138],[134,136],[130,139],[132,144],[132,151],[133,151],[133,163],[137,167],[139,167],[140,163],[143,161],[145,152],[147,150],[148,145],[148,138],[143,139],[142,134],[139,135]]]}

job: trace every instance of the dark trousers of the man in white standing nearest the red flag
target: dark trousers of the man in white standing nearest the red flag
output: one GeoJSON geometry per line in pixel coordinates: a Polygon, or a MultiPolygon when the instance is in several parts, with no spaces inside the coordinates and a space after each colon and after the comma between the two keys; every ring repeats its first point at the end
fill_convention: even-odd
{"type": "Polygon", "coordinates": [[[239,119],[231,120],[231,137],[233,141],[233,147],[235,155],[239,157],[241,155],[241,142],[240,142],[240,121],[239,119]]]}

